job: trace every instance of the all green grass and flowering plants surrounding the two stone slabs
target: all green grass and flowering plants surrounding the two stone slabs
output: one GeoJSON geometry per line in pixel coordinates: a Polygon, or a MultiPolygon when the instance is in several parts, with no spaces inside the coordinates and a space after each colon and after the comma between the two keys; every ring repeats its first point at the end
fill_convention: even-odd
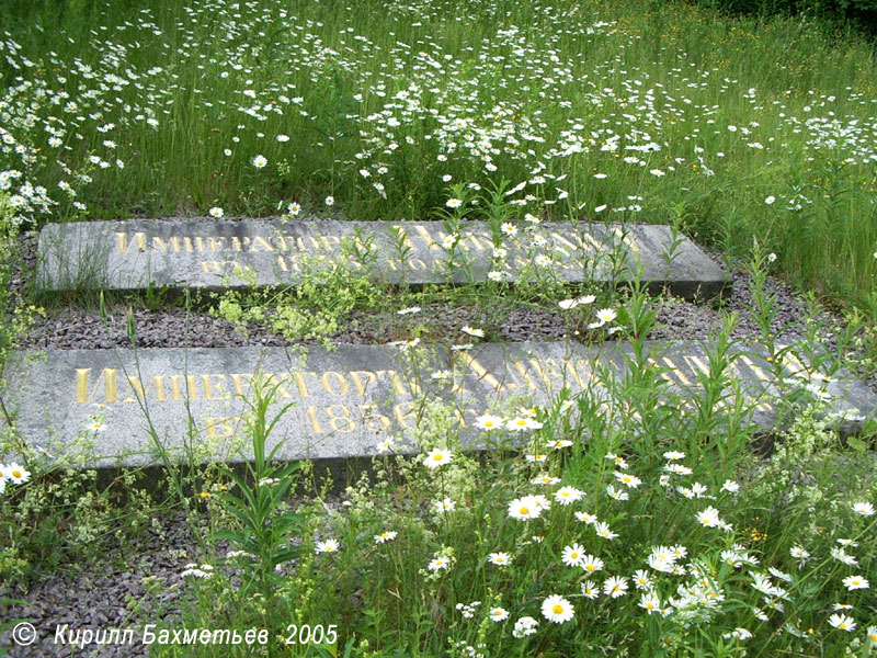
{"type": "MultiPolygon", "coordinates": [[[[638,0],[46,0],[7,3],[0,23],[2,356],[36,313],[8,290],[15,235],[48,220],[283,213],[453,228],[465,216],[523,230],[529,215],[672,225],[745,263],[753,349],[777,368],[768,271],[815,309],[848,309],[842,327],[802,320],[794,349],[819,373],[877,367],[877,76],[855,37],[638,0]],[[829,331],[831,355],[818,347],[829,331]]],[[[557,309],[592,292],[550,276],[452,293],[327,276],[227,294],[215,310],[324,337],[355,308],[557,309]]],[[[777,383],[786,422],[762,461],[729,374],[737,318],[685,399],[645,358],[651,303],[636,286],[593,292],[600,304],[569,309],[570,328],[597,341],[620,327],[625,377],[491,409],[480,456],[462,451],[449,405],[419,400],[422,453],[395,454],[381,435],[371,475],[339,483],[345,504],[329,511],[312,464],[265,453],[267,383],[249,400],[248,472],[193,458],[151,494],[140,472],[107,488],[8,428],[3,453],[25,467],[0,478],[0,574],[26,586],[110,546],[127,568],[152,518],[181,511],[202,553],[181,558],[180,605],[159,612],[266,637],[155,656],[870,655],[873,421],[842,439],[821,376],[801,372],[804,388],[777,383]],[[601,306],[617,318],[597,327],[601,306]]],[[[408,315],[391,333],[417,359],[414,339],[435,337],[408,315]]],[[[144,585],[135,613],[167,587],[144,585]]]]}

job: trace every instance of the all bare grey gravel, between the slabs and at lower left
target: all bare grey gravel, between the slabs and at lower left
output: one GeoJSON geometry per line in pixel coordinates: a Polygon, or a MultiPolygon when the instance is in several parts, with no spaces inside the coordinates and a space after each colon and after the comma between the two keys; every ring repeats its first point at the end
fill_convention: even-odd
{"type": "MultiPolygon", "coordinates": [[[[23,247],[26,254],[26,270],[33,271],[35,264],[35,240],[25,238],[23,247]]],[[[13,287],[19,290],[26,283],[30,272],[16,277],[13,287]]],[[[680,299],[661,297],[656,300],[658,326],[650,338],[656,340],[693,339],[706,340],[715,337],[719,327],[717,305],[740,314],[741,321],[733,338],[747,339],[759,334],[758,327],[749,315],[751,295],[748,290],[748,275],[741,271],[731,272],[732,285],[721,300],[709,304],[693,304],[680,299]]],[[[778,310],[772,330],[782,340],[801,338],[796,322],[802,317],[804,305],[788,286],[775,279],[768,281],[770,294],[777,295],[778,310]]],[[[50,311],[34,325],[25,340],[31,349],[110,349],[130,347],[126,333],[126,307],[110,309],[104,321],[99,314],[80,307],[61,307],[50,311]]],[[[137,328],[136,340],[141,348],[171,347],[243,347],[288,344],[266,325],[253,326],[247,334],[234,325],[196,310],[163,308],[161,310],[134,310],[137,328]]],[[[419,324],[430,327],[433,338],[459,339],[459,328],[464,325],[488,326],[489,338],[505,341],[558,340],[566,336],[568,328],[559,313],[519,306],[509,309],[502,319],[487,317],[489,311],[474,306],[448,307],[437,304],[424,305],[415,317],[400,318],[396,314],[353,313],[343,318],[342,329],[330,338],[339,343],[383,343],[403,338],[406,328],[419,324]],[[411,318],[411,319],[409,319],[411,318]]],[[[494,311],[496,313],[496,311],[494,311]]],[[[822,318],[831,321],[828,315],[822,318]]],[[[315,341],[301,341],[315,342],[315,341]]],[[[25,657],[67,657],[94,656],[100,658],[143,656],[146,647],[91,645],[80,651],[72,647],[54,645],[55,627],[70,624],[76,628],[132,628],[135,638],[140,640],[144,623],[155,621],[155,614],[173,610],[181,595],[180,571],[185,563],[198,561],[197,543],[182,515],[162,514],[157,518],[161,532],[148,529],[135,551],[125,556],[126,564],[112,566],[113,560],[96,560],[93,566],[64,569],[47,574],[44,579],[33,583],[29,591],[15,585],[0,587],[0,597],[21,598],[25,605],[0,606],[7,620],[29,617],[36,626],[39,640],[31,647],[13,648],[9,656],[25,657]],[[164,585],[157,597],[147,595],[143,579],[157,578],[164,585]],[[150,617],[150,613],[153,615],[150,617]]],[[[122,561],[122,560],[118,560],[122,561]]],[[[171,627],[182,627],[182,623],[171,627]]],[[[4,634],[5,638],[9,637],[4,634]]]]}

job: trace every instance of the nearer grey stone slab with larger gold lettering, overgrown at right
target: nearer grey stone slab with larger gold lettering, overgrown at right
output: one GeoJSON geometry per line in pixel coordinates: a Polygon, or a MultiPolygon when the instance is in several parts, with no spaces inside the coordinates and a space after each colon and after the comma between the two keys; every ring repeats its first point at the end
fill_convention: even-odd
{"type": "MultiPolygon", "coordinates": [[[[698,374],[709,367],[702,345],[650,343],[648,350],[653,363],[668,368],[667,389],[682,396],[670,404],[684,405],[697,394],[698,374]]],[[[24,352],[8,365],[3,397],[24,440],[49,454],[61,454],[78,436],[93,440],[94,456],[83,465],[155,462],[146,411],[174,460],[192,452],[203,461],[241,461],[250,454],[241,396],[252,397],[253,376],[263,373],[280,384],[274,412],[292,405],[272,435],[272,442],[284,442],[280,456],[355,457],[376,454],[378,442],[394,435],[397,450],[415,450],[423,399],[453,399],[464,440],[477,446],[478,416],[502,407],[508,417],[521,404],[555,399],[563,387],[605,396],[600,373],[630,372],[630,354],[620,342],[486,343],[469,351],[341,345],[306,355],[283,348],[155,349],[140,350],[136,359],[132,351],[24,352]],[[412,361],[420,365],[412,367],[412,361]],[[443,371],[444,378],[433,376],[443,371]]],[[[785,374],[801,368],[794,359],[784,365],[785,374]]],[[[747,354],[734,361],[732,374],[754,400],[752,422],[768,429],[777,394],[768,364],[747,354]]],[[[836,411],[875,409],[875,395],[859,382],[840,378],[828,390],[836,411]]]]}

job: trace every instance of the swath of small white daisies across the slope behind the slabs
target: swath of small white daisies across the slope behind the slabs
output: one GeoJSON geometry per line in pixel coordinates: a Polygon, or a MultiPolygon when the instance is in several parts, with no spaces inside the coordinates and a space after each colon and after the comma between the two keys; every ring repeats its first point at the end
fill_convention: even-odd
{"type": "MultiPolygon", "coordinates": [[[[502,173],[512,181],[508,202],[537,222],[566,206],[594,216],[639,213],[673,177],[720,175],[740,152],[755,164],[782,159],[793,139],[847,166],[877,160],[877,120],[864,114],[875,100],[855,87],[809,89],[801,99],[772,93],[692,58],[675,35],[661,49],[679,66],[623,64],[617,54],[640,35],[569,7],[498,16],[463,49],[447,36],[464,19],[459,11],[418,2],[383,7],[379,32],[355,12],[250,2],[244,15],[231,0],[196,0],[172,20],[150,8],[118,20],[102,8],[89,25],[105,38],[75,25],[42,43],[7,34],[0,52],[12,76],[0,95],[0,189],[11,194],[16,222],[84,212],[80,197],[101,179],[132,177],[148,190],[155,182],[130,170],[158,168],[173,144],[193,149],[181,161],[198,152],[216,175],[240,179],[288,168],[303,152],[308,167],[343,162],[349,194],[378,203],[405,197],[406,162],[445,182],[459,167],[483,180],[502,173]],[[413,21],[412,12],[424,13],[413,21]],[[563,46],[569,39],[576,48],[563,46]],[[594,58],[594,48],[605,55],[594,58]],[[266,53],[271,66],[253,64],[266,53]],[[337,70],[345,71],[343,83],[330,93],[326,81],[337,70]],[[566,99],[558,116],[534,103],[544,98],[566,99]],[[742,103],[751,116],[717,116],[717,99],[742,103]],[[173,138],[181,121],[191,146],[173,138]],[[340,141],[330,149],[327,128],[341,124],[356,138],[346,150],[340,141]],[[577,168],[596,185],[579,196],[568,178],[577,168]],[[607,188],[631,180],[648,192],[607,188]]],[[[338,203],[332,189],[317,197],[326,207],[338,203]]],[[[767,198],[790,207],[812,201],[779,191],[767,198]]],[[[460,203],[452,197],[446,206],[460,203]]]]}

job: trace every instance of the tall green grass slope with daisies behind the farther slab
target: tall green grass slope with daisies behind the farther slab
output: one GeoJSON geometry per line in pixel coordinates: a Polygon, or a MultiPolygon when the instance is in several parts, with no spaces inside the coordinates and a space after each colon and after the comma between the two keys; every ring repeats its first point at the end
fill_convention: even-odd
{"type": "Polygon", "coordinates": [[[23,172],[11,192],[27,180],[58,203],[49,215],[24,195],[25,223],[214,206],[255,216],[289,202],[428,218],[449,174],[529,181],[508,200],[532,195],[520,215],[682,218],[730,253],[758,236],[797,284],[841,302],[873,290],[874,52],[806,19],[504,0],[43,0],[0,12],[13,140],[0,171],[23,172]],[[659,150],[626,150],[648,144],[659,150]]]}

